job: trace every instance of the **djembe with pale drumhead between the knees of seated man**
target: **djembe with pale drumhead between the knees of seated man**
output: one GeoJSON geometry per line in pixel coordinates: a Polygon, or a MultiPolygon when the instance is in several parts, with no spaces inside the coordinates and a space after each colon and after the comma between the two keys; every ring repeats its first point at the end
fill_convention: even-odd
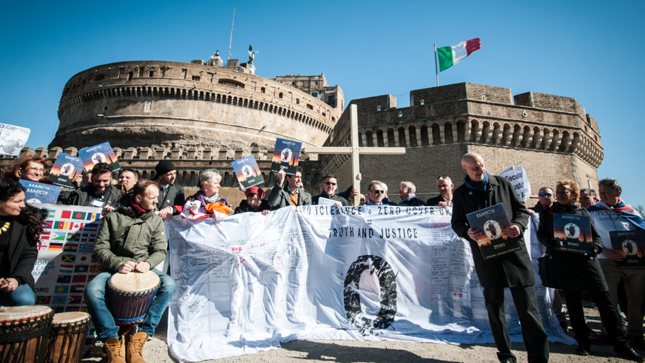
{"type": "Polygon", "coordinates": [[[108,307],[117,325],[136,324],[146,317],[161,280],[152,271],[115,273],[108,280],[108,307]]]}

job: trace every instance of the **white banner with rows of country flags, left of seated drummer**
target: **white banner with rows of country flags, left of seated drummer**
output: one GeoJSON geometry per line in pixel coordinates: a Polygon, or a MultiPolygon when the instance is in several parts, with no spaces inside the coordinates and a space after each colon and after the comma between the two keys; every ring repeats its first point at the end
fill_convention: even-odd
{"type": "Polygon", "coordinates": [[[49,213],[32,270],[36,304],[46,304],[57,312],[86,311],[83,291],[101,272],[92,262],[101,209],[55,204],[41,207],[49,213]]]}

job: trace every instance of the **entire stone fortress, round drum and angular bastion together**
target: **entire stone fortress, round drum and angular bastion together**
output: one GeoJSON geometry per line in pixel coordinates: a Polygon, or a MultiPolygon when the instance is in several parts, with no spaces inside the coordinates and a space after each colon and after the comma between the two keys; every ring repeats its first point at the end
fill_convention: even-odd
{"type": "MultiPolygon", "coordinates": [[[[509,88],[458,83],[410,92],[410,107],[397,109],[392,95],[353,99],[359,112],[359,143],[406,147],[402,156],[361,156],[362,192],[378,179],[399,200],[399,183],[409,180],[426,199],[437,194],[435,180],[448,175],[461,185],[459,162],[479,152],[493,174],[511,165],[526,168],[535,196],[560,178],[581,187],[597,186],[602,145],[595,120],[573,98],[509,88]]],[[[223,174],[221,194],[233,207],[243,194],[230,162],[249,154],[271,174],[275,138],[306,146],[349,145],[349,112],[341,87],[319,76],[255,76],[250,63],[219,55],[209,61],[124,61],[75,74],[63,89],[59,129],[48,148],[25,148],[55,160],[59,152],[110,141],[121,167],[154,174],[170,159],[177,182],[194,191],[199,173],[215,168],[223,174]],[[192,188],[191,188],[192,187],[192,188]]],[[[6,167],[12,158],[0,159],[6,167]]],[[[319,193],[326,174],[339,177],[339,190],[351,184],[349,156],[301,155],[306,189],[319,193]]],[[[533,202],[534,203],[534,202],[533,202]]]]}

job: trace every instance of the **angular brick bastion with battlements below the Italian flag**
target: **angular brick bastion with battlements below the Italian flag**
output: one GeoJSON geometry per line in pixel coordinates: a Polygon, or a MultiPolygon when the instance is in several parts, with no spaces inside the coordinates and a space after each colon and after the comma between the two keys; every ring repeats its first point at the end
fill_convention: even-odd
{"type": "MultiPolygon", "coordinates": [[[[399,183],[415,183],[419,198],[437,195],[436,178],[463,183],[461,156],[478,152],[491,174],[522,166],[531,196],[555,181],[576,180],[597,189],[602,162],[598,124],[573,98],[510,88],[457,83],[410,92],[410,107],[397,109],[392,95],[353,99],[357,105],[361,146],[406,147],[404,156],[361,157],[363,180],[378,179],[399,200],[399,183]],[[387,171],[387,172],[383,172],[387,171]]],[[[348,145],[349,112],[342,114],[329,146],[348,145]]],[[[350,178],[349,156],[321,156],[321,172],[350,178]]],[[[532,206],[528,202],[527,205],[532,206]]]]}

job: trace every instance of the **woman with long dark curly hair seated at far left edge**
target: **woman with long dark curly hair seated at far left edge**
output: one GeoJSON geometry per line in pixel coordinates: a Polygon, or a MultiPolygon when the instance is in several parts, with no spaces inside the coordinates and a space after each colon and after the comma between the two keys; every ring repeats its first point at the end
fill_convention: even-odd
{"type": "Polygon", "coordinates": [[[0,306],[33,305],[32,269],[47,212],[25,204],[25,188],[0,183],[0,306]]]}

